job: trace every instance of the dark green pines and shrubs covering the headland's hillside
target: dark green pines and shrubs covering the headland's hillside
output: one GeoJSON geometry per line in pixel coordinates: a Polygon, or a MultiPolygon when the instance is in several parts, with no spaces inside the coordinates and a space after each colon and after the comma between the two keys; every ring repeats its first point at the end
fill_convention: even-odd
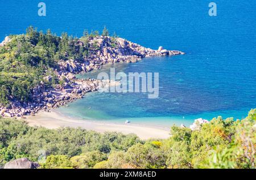
{"type": "MultiPolygon", "coordinates": [[[[13,100],[30,101],[32,89],[44,76],[55,74],[60,60],[81,62],[90,54],[96,54],[97,42],[89,42],[98,35],[97,31],[90,34],[85,31],[81,38],[67,33],[59,37],[50,30],[43,33],[33,27],[28,27],[25,35],[11,35],[11,41],[0,47],[0,105],[7,106],[13,100]]],[[[109,36],[106,27],[102,35],[109,36]]]]}

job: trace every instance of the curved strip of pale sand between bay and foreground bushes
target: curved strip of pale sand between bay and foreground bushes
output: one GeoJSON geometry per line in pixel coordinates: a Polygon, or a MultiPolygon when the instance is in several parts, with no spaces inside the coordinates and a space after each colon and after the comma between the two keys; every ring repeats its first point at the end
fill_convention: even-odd
{"type": "Polygon", "coordinates": [[[52,112],[39,112],[35,116],[27,116],[24,121],[28,122],[30,126],[42,126],[46,128],[59,127],[81,127],[86,130],[94,130],[97,132],[116,131],[123,134],[136,134],[139,138],[145,140],[150,138],[166,139],[170,137],[170,131],[159,127],[150,127],[142,125],[117,124],[117,123],[103,123],[92,122],[84,119],[73,119],[53,110],[52,112]]]}

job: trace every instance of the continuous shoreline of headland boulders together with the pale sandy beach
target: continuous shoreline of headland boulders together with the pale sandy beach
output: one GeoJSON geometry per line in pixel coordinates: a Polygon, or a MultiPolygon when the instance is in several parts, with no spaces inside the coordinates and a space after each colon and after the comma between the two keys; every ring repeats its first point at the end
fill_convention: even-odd
{"type": "MultiPolygon", "coordinates": [[[[86,43],[90,46],[89,50],[92,52],[88,57],[83,55],[82,59],[73,59],[72,57],[60,59],[57,62],[57,67],[53,70],[54,75],[44,74],[45,76],[40,80],[40,83],[32,89],[30,101],[22,102],[14,99],[10,101],[9,106],[0,105],[0,115],[2,117],[24,119],[30,126],[46,128],[81,127],[97,132],[134,133],[141,139],[166,139],[170,137],[169,130],[164,130],[160,127],[72,119],[53,110],[66,105],[68,102],[83,98],[85,93],[97,91],[100,87],[117,85],[118,83],[111,80],[76,79],[75,74],[97,70],[107,63],[135,63],[147,57],[184,54],[179,50],[164,49],[162,46],[158,50],[145,48],[119,37],[88,36],[87,38],[88,42],[86,41],[86,43]],[[55,84],[56,79],[57,84],[55,84]],[[47,88],[47,84],[51,83],[55,85],[47,88]]],[[[1,46],[7,46],[10,41],[14,40],[7,36],[1,46]]],[[[83,40],[82,37],[78,40],[73,40],[74,46],[76,48],[85,48],[85,41],[83,40]]]]}

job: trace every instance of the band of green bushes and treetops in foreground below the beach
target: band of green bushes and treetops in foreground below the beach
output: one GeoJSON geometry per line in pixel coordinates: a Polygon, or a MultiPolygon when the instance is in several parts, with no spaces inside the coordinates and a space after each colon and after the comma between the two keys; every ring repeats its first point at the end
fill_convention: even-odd
{"type": "Polygon", "coordinates": [[[200,130],[171,127],[165,140],[100,134],[81,128],[48,130],[0,119],[0,164],[28,157],[40,168],[255,168],[256,109],[247,118],[214,118],[200,130]]]}

